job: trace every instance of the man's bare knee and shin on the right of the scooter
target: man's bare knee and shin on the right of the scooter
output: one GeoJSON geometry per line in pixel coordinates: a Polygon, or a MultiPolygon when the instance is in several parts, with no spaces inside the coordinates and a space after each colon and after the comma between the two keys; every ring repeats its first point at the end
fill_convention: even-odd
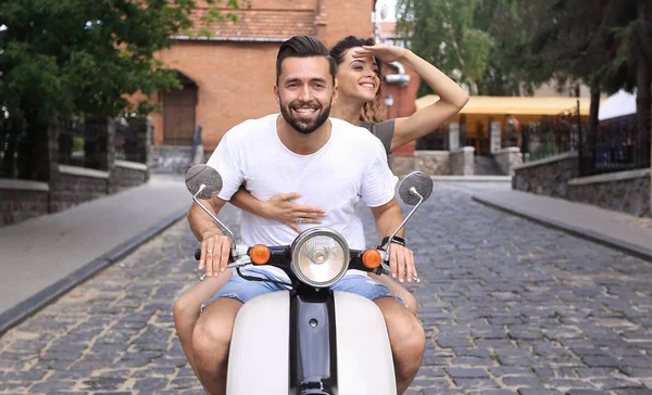
{"type": "Polygon", "coordinates": [[[416,377],[426,348],[426,335],[416,317],[393,297],[374,301],[383,311],[397,375],[397,391],[404,393],[416,377]]]}

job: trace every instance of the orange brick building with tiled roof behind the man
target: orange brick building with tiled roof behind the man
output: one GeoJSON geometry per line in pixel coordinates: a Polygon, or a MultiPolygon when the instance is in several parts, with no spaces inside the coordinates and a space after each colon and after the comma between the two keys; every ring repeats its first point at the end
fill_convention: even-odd
{"type": "MultiPolygon", "coordinates": [[[[248,118],[278,112],[274,100],[276,52],[293,35],[317,37],[327,47],[347,35],[371,37],[375,0],[250,0],[237,23],[203,26],[179,36],[159,54],[176,69],[184,89],[159,94],[152,114],[154,145],[190,145],[201,126],[212,151],[224,133],[248,118]],[[211,31],[202,36],[200,31],[211,31]]],[[[198,9],[199,21],[208,9],[198,9]]],[[[198,23],[201,25],[201,23],[198,23]]]]}

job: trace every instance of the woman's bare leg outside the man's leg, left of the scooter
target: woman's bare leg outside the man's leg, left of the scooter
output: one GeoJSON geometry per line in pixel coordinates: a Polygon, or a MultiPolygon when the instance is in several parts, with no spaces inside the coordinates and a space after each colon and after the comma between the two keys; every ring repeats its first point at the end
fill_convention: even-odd
{"type": "Polygon", "coordinates": [[[197,364],[192,353],[192,330],[201,313],[201,305],[210,300],[228,279],[231,277],[231,269],[227,269],[218,278],[210,277],[195,284],[190,290],[179,296],[174,303],[172,309],[174,315],[174,326],[184,348],[184,354],[199,379],[197,364]]]}

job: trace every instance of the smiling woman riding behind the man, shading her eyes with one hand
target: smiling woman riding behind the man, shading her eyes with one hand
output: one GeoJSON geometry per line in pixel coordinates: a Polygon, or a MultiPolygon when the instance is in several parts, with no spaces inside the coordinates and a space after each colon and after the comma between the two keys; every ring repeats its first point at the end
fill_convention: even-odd
{"type": "MultiPolygon", "coordinates": [[[[372,39],[360,39],[349,36],[339,41],[330,54],[338,63],[336,75],[339,86],[338,99],[333,105],[331,117],[348,120],[353,125],[367,128],[383,141],[388,154],[419,137],[437,129],[451,116],[456,114],[468,101],[466,92],[437,67],[415,55],[410,50],[387,44],[374,44],[372,39]],[[380,104],[380,68],[379,62],[401,62],[414,69],[440,97],[440,100],[413,115],[404,118],[379,122],[380,104]]],[[[298,224],[321,224],[319,218],[327,215],[319,207],[294,203],[299,193],[288,192],[273,196],[266,202],[253,197],[241,189],[231,199],[237,207],[268,219],[275,219],[300,232],[298,224]]],[[[202,249],[205,250],[205,249],[202,249]]],[[[205,262],[199,263],[203,269],[205,262]]],[[[200,306],[208,301],[231,276],[230,270],[217,273],[196,284],[181,295],[174,304],[174,320],[179,341],[188,361],[195,369],[192,355],[192,329],[200,314],[200,306]]],[[[412,294],[396,280],[387,276],[375,276],[375,280],[384,282],[390,291],[401,296],[408,308],[416,315],[416,301],[412,294]]],[[[392,273],[403,282],[403,273],[392,273]]],[[[408,281],[412,281],[408,278],[408,281]]]]}

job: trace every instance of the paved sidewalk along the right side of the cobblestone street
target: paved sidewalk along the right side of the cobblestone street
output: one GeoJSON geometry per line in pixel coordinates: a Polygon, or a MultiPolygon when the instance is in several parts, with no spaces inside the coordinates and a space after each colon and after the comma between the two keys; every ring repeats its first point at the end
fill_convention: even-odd
{"type": "Polygon", "coordinates": [[[514,190],[471,190],[473,199],[652,262],[652,218],[514,190]]]}

